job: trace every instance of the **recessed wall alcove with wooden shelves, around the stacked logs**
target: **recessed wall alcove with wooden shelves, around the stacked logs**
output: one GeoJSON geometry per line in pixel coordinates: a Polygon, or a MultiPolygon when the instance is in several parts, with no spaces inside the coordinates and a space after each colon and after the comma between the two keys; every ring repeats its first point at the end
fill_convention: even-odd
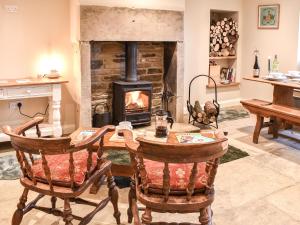
{"type": "MultiPolygon", "coordinates": [[[[211,10],[210,11],[210,25],[213,25],[216,21],[221,21],[224,18],[231,18],[239,24],[239,13],[238,11],[224,11],[224,10],[211,10]]],[[[211,27],[211,26],[210,26],[211,27]]],[[[210,39],[211,40],[211,39],[210,39]]],[[[219,88],[239,88],[240,83],[237,79],[237,49],[238,49],[238,40],[233,44],[235,48],[235,55],[229,56],[210,56],[209,57],[209,74],[215,79],[217,87],[219,88]],[[217,66],[211,67],[210,63],[214,62],[217,66]],[[221,71],[226,68],[233,68],[234,70],[234,79],[231,83],[222,84],[221,83],[221,71]]],[[[211,41],[209,42],[211,45],[211,41]]],[[[211,53],[210,53],[211,55],[211,53]]],[[[207,88],[213,88],[214,84],[211,80],[208,80],[207,88]]]]}

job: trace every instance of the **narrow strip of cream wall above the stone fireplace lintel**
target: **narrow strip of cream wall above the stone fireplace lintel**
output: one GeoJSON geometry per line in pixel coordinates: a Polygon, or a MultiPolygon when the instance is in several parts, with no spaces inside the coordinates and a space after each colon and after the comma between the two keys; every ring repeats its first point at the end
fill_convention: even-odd
{"type": "Polygon", "coordinates": [[[184,11],[185,0],[80,0],[80,4],[184,11]]]}

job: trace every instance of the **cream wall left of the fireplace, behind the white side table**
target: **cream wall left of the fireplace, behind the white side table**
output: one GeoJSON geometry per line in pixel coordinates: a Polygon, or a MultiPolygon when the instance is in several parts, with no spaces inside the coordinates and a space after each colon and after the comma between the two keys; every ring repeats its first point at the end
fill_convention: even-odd
{"type": "MultiPolygon", "coordinates": [[[[70,41],[69,0],[1,0],[0,1],[0,79],[36,77],[39,61],[52,53],[60,55],[64,78],[72,79],[72,45],[70,41]],[[5,11],[5,5],[18,6],[17,13],[5,11]]],[[[65,125],[75,121],[74,91],[64,85],[62,116],[65,125]]],[[[24,101],[28,114],[44,111],[47,99],[24,101]]],[[[24,120],[8,101],[0,102],[0,124],[24,120]]]]}

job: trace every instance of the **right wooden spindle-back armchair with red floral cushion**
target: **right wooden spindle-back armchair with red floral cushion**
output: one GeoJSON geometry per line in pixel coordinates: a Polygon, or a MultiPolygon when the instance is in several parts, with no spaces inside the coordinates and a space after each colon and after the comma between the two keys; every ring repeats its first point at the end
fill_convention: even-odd
{"type": "Polygon", "coordinates": [[[143,138],[138,138],[137,143],[132,140],[130,131],[124,131],[124,135],[135,170],[129,193],[128,222],[134,219],[135,225],[141,224],[138,200],[146,206],[143,224],[168,224],[151,223],[154,211],[200,212],[200,224],[211,225],[214,180],[220,157],[228,149],[223,133],[216,132],[214,142],[203,144],[180,144],[174,133],[167,143],[143,138]]]}

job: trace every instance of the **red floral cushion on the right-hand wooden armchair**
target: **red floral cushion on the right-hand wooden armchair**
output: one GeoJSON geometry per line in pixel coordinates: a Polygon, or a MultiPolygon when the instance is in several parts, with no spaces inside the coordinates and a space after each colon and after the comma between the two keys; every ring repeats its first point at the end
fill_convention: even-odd
{"type": "MultiPolygon", "coordinates": [[[[149,187],[161,189],[163,187],[164,163],[144,160],[144,164],[147,171],[149,187]]],[[[208,177],[207,173],[205,172],[205,167],[206,163],[198,163],[198,173],[195,183],[196,189],[205,187],[208,177]]],[[[192,168],[192,163],[169,164],[171,190],[186,190],[190,180],[192,168]]]]}

